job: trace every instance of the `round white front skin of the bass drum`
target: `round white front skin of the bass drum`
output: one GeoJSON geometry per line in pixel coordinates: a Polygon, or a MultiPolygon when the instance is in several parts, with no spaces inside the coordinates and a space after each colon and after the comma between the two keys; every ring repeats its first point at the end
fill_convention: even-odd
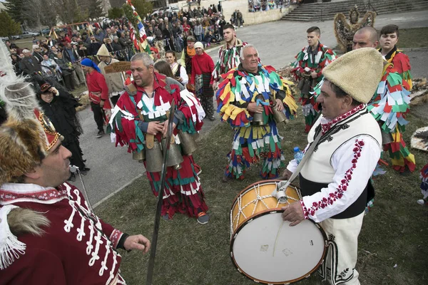
{"type": "Polygon", "coordinates": [[[233,236],[230,255],[248,278],[265,284],[287,284],[315,271],[325,256],[325,233],[304,220],[295,227],[281,212],[260,214],[233,236]]]}

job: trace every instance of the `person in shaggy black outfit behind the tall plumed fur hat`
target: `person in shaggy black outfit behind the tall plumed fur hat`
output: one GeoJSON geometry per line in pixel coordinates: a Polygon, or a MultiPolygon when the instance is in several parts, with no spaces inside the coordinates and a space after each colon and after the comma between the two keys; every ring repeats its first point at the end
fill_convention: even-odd
{"type": "MultiPolygon", "coordinates": [[[[36,94],[44,114],[51,120],[55,130],[64,137],[62,145],[71,152],[71,165],[76,165],[81,174],[86,175],[89,168],[85,165],[86,160],[83,160],[78,141],[83,130],[76,113],[76,107],[81,104],[64,88],[58,86],[58,90],[46,81],[40,81],[39,86],[40,90],[36,94]]],[[[70,180],[75,179],[72,174],[70,180]]]]}

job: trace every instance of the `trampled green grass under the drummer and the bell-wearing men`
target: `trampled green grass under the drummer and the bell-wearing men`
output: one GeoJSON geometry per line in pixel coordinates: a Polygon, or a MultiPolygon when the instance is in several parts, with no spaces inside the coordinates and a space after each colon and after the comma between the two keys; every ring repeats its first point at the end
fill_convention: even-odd
{"type": "MultiPolygon", "coordinates": [[[[408,118],[406,142],[414,130],[426,122],[412,115],[408,118]]],[[[284,136],[282,147],[288,161],[292,158],[292,147],[306,144],[302,115],[288,125],[280,125],[279,129],[284,136]]],[[[153,284],[254,284],[238,273],[230,261],[229,211],[235,196],[260,180],[260,167],[248,170],[243,181],[220,182],[231,141],[232,130],[225,124],[200,139],[194,157],[203,169],[200,177],[212,217],[206,225],[182,214],[175,214],[169,222],[161,220],[153,284]]],[[[417,150],[412,152],[419,171],[427,163],[428,155],[417,150]]],[[[137,162],[130,163],[138,167],[137,162]]],[[[428,284],[428,207],[416,203],[422,197],[419,172],[400,176],[390,167],[386,168],[387,173],[374,180],[377,197],[360,234],[357,264],[360,282],[428,284]]],[[[128,234],[141,233],[151,239],[155,209],[156,199],[144,177],[97,207],[96,213],[128,234]]],[[[148,254],[123,251],[121,254],[121,271],[127,283],[145,284],[148,254]]],[[[300,284],[320,284],[320,279],[314,274],[300,284]]]]}

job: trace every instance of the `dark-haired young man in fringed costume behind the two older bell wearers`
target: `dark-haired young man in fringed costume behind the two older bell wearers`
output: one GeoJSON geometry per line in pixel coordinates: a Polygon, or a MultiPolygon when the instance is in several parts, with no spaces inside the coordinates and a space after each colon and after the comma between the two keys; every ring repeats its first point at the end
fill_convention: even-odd
{"type": "Polygon", "coordinates": [[[225,44],[220,46],[218,61],[215,63],[213,71],[213,78],[216,82],[220,81],[220,75],[239,66],[240,50],[247,44],[236,37],[235,27],[231,24],[225,24],[223,27],[223,38],[225,38],[225,44]]]}

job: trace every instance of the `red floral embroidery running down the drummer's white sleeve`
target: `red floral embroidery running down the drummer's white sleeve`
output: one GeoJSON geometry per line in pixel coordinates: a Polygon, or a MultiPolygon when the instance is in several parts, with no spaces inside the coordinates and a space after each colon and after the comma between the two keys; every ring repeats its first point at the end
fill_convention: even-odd
{"type": "Polygon", "coordinates": [[[305,219],[309,219],[309,216],[314,216],[315,211],[318,209],[324,209],[329,204],[333,204],[336,202],[337,199],[342,199],[343,192],[347,190],[347,187],[352,179],[352,171],[355,170],[355,167],[357,167],[357,161],[361,156],[361,150],[364,146],[363,140],[355,140],[355,146],[354,146],[354,158],[352,158],[352,166],[349,170],[345,172],[345,175],[343,179],[340,181],[340,185],[337,186],[337,190],[334,193],[330,193],[328,197],[323,197],[321,201],[319,202],[313,202],[312,206],[307,209],[305,206],[305,203],[301,200],[300,204],[302,205],[303,214],[305,214],[305,219]]]}

